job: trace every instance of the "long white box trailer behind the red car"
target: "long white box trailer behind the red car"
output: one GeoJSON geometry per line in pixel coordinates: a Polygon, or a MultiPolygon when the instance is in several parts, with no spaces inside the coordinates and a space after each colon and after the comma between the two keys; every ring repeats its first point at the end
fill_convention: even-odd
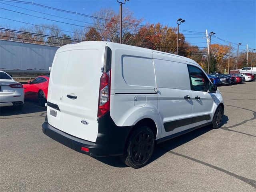
{"type": "Polygon", "coordinates": [[[59,47],[0,39],[0,70],[7,73],[50,73],[59,47]]]}

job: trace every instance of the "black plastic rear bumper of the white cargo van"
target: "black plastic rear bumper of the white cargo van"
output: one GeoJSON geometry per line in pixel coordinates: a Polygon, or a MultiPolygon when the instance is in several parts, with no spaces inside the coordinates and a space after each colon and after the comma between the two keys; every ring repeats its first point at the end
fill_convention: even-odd
{"type": "Polygon", "coordinates": [[[96,142],[83,140],[54,128],[48,123],[47,116],[42,124],[42,131],[53,140],[89,156],[119,156],[124,153],[126,138],[132,127],[118,127],[115,124],[113,126],[110,123],[112,121],[109,114],[99,120],[99,133],[96,142]],[[89,152],[82,151],[82,147],[88,148],[89,152]]]}

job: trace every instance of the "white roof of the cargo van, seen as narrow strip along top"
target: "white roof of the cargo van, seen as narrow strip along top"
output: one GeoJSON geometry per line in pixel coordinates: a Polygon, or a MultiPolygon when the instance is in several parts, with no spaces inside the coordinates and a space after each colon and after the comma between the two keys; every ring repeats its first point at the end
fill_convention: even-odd
{"type": "MultiPolygon", "coordinates": [[[[80,42],[80,43],[74,43],[74,44],[67,44],[64,45],[62,47],[60,47],[57,52],[62,52],[62,51],[66,51],[66,50],[74,50],[74,49],[81,49],[83,46],[106,46],[109,45],[111,46],[111,48],[126,48],[126,49],[132,49],[132,50],[138,50],[138,51],[144,51],[144,52],[158,52],[158,53],[164,53],[164,54],[168,54],[168,55],[172,55],[172,56],[176,56],[175,54],[170,54],[170,53],[166,53],[166,52],[161,52],[161,51],[157,51],[157,50],[152,50],[152,49],[148,49],[148,48],[142,48],[142,47],[137,47],[137,46],[132,46],[132,45],[126,45],[126,44],[120,44],[120,43],[113,43],[113,42],[107,42],[107,41],[84,41],[84,42],[80,42]]],[[[196,63],[194,60],[184,57],[184,56],[178,56],[182,59],[184,59],[186,62],[192,63],[192,64],[196,64],[199,66],[198,63],[196,63]]]]}

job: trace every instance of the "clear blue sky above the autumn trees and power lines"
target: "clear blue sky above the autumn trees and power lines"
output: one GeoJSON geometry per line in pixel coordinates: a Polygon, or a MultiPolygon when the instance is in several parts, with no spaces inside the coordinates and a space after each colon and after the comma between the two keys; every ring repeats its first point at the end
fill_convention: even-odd
{"type": "MultiPolygon", "coordinates": [[[[70,20],[55,18],[53,16],[47,16],[22,9],[27,8],[48,14],[68,17],[74,20],[92,22],[90,18],[84,16],[46,9],[40,6],[35,6],[31,4],[31,2],[87,15],[92,15],[94,12],[98,12],[101,8],[112,8],[116,12],[119,11],[119,3],[116,0],[20,1],[26,1],[29,4],[19,3],[12,0],[0,0],[0,17],[29,22],[32,24],[54,23],[58,24],[62,30],[70,31],[74,26],[52,22],[42,18],[35,18],[16,12],[50,18],[62,22],[71,22],[70,20]]],[[[121,1],[124,2],[124,0],[121,1]]],[[[144,21],[142,24],[148,22],[150,24],[160,22],[163,25],[176,27],[177,19],[182,18],[186,20],[186,22],[180,25],[180,32],[182,32],[182,30],[205,32],[207,29],[208,32],[213,31],[216,33],[214,37],[212,37],[212,44],[220,43],[228,45],[228,42],[232,42],[231,45],[234,49],[237,49],[237,44],[242,43],[242,45],[240,45],[240,51],[246,49],[246,44],[248,44],[249,49],[256,48],[256,0],[129,0],[126,1],[123,8],[128,8],[130,11],[134,12],[136,18],[143,18],[144,21]],[[222,40],[216,37],[221,38],[222,40]]],[[[9,28],[18,29],[20,26],[25,25],[3,18],[0,18],[0,25],[6,25],[9,28]]],[[[71,23],[81,25],[81,22],[72,21],[71,23]]],[[[207,46],[205,34],[182,33],[185,34],[186,40],[191,44],[199,47],[207,46]]]]}

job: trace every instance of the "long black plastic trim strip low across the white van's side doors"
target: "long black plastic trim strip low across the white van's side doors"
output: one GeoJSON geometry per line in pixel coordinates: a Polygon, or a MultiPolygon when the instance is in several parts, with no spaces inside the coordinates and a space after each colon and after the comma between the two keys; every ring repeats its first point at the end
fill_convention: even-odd
{"type": "Polygon", "coordinates": [[[190,117],[190,118],[185,118],[185,119],[176,120],[176,121],[169,121],[164,123],[164,130],[166,132],[169,132],[181,126],[197,123],[204,120],[210,120],[210,119],[211,119],[210,115],[202,115],[202,116],[190,117]]]}

